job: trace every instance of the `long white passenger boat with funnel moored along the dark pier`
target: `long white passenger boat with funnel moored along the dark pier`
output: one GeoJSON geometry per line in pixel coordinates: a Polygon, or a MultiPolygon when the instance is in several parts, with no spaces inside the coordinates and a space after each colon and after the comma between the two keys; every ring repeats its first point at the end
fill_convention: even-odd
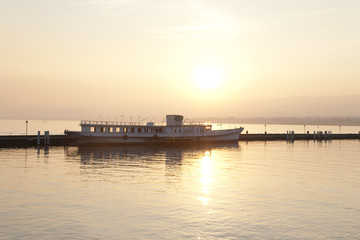
{"type": "Polygon", "coordinates": [[[166,115],[166,125],[83,120],[80,126],[79,145],[226,143],[237,142],[244,130],[213,130],[210,123],[184,123],[182,115],[166,115]]]}

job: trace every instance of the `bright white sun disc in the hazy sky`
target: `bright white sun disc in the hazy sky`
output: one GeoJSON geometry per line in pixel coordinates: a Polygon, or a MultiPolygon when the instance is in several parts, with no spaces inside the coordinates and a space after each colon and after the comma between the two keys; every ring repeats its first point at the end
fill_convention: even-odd
{"type": "Polygon", "coordinates": [[[224,79],[221,69],[214,66],[198,68],[194,73],[197,86],[203,90],[212,90],[220,86],[224,79]]]}

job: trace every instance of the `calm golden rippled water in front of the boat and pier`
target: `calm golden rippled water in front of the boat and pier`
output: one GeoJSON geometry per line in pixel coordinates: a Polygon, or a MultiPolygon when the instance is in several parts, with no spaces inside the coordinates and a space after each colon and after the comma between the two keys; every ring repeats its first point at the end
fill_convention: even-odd
{"type": "Polygon", "coordinates": [[[0,149],[0,239],[360,239],[360,141],[0,149]]]}

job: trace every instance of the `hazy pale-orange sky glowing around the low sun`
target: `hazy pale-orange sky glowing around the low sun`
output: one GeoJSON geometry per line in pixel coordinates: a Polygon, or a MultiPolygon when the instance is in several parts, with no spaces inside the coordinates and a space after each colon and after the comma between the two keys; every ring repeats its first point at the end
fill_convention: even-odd
{"type": "MultiPolygon", "coordinates": [[[[359,9],[358,0],[0,0],[0,118],[261,116],[251,102],[358,95],[359,9]]],[[[359,114],[352,99],[332,115],[359,114]]]]}

